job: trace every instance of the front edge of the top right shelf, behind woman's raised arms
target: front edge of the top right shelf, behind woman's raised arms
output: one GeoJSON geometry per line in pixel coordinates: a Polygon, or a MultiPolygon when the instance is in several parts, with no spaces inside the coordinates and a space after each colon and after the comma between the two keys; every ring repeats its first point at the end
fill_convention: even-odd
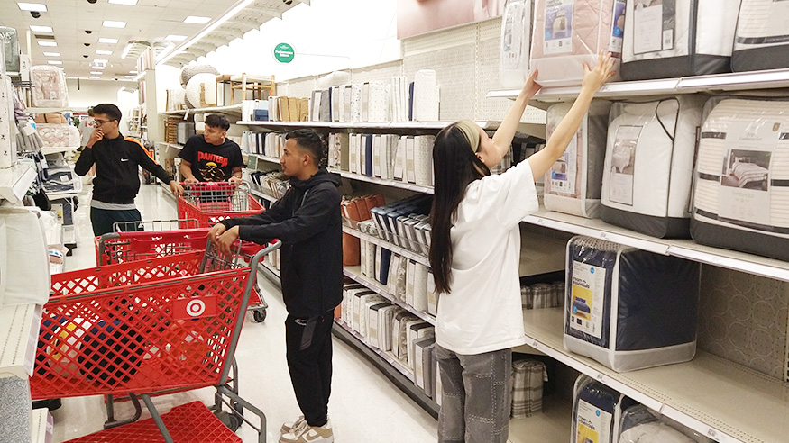
{"type": "MultiPolygon", "coordinates": [[[[711,91],[748,91],[789,87],[789,69],[715,74],[678,78],[661,78],[631,82],[613,82],[603,85],[594,96],[598,98],[631,98],[647,95],[693,94],[711,91]]],[[[581,86],[544,87],[532,102],[563,102],[572,100],[581,92],[581,86]]],[[[491,91],[488,98],[514,99],[519,89],[491,91]]],[[[537,104],[536,104],[537,105],[537,104]]]]}

